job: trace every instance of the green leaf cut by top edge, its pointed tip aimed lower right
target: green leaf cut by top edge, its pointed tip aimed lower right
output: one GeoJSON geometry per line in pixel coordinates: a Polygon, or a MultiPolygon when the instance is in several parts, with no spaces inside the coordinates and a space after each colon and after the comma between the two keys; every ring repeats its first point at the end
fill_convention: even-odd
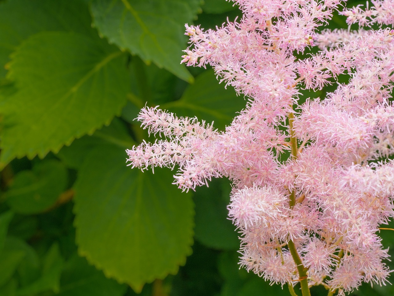
{"type": "Polygon", "coordinates": [[[184,24],[196,18],[199,0],[93,0],[93,23],[110,43],[153,61],[187,81],[180,65],[186,38],[184,24]]]}

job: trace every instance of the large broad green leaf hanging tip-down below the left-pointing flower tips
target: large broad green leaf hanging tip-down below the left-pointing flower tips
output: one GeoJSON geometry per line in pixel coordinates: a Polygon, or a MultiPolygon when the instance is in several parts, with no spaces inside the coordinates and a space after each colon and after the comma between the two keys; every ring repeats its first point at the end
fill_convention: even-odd
{"type": "Polygon", "coordinates": [[[80,255],[139,292],[190,255],[193,202],[170,185],[168,170],[143,173],[124,159],[116,146],[87,156],[74,186],[74,225],[80,255]]]}

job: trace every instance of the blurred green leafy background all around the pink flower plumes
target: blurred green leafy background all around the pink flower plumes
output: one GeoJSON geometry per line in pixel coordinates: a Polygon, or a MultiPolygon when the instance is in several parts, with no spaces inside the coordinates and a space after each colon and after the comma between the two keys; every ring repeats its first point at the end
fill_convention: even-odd
{"type": "Polygon", "coordinates": [[[180,65],[184,24],[227,16],[240,10],[224,0],[0,1],[0,296],[289,295],[239,269],[229,181],[182,193],[168,169],[125,165],[148,140],[145,104],[220,130],[245,106],[212,69],[180,65]]]}

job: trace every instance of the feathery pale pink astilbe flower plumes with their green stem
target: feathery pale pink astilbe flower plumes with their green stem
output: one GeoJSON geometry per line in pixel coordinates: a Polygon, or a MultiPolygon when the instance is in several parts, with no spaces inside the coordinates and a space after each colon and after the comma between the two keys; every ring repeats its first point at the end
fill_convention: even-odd
{"type": "MultiPolygon", "coordinates": [[[[394,162],[386,160],[394,154],[394,31],[318,32],[340,0],[234,2],[239,22],[208,31],[186,24],[182,62],[211,65],[245,95],[245,108],[221,132],[147,107],[138,120],[164,139],[127,150],[128,165],[179,166],[182,190],[228,177],[241,266],[293,295],[298,281],[304,296],[312,285],[330,295],[363,281],[385,285],[391,271],[378,231],[394,214],[394,162]],[[316,54],[296,58],[314,46],[316,54]],[[300,88],[322,89],[340,74],[349,82],[298,104],[300,88]]],[[[394,1],[372,3],[342,14],[349,24],[392,25],[394,1]]]]}

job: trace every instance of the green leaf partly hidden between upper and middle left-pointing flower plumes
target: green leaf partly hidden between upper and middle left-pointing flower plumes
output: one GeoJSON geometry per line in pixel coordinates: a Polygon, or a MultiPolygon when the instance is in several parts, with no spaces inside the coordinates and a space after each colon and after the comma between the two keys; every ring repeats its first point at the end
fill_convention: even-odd
{"type": "Polygon", "coordinates": [[[242,96],[236,95],[231,87],[224,88],[216,80],[214,71],[208,70],[197,76],[194,84],[186,88],[178,101],[163,104],[160,107],[168,109],[177,115],[194,117],[215,122],[214,127],[224,130],[226,125],[245,108],[246,102],[242,96]]]}

